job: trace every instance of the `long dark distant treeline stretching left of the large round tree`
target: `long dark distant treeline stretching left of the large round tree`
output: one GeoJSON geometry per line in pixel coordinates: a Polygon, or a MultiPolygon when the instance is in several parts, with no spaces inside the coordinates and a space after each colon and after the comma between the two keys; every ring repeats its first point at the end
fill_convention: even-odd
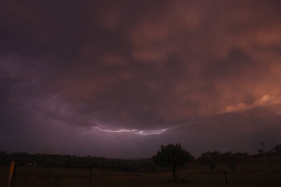
{"type": "Polygon", "coordinates": [[[15,161],[18,166],[34,164],[38,167],[71,167],[71,168],[98,168],[122,170],[127,172],[155,170],[156,164],[152,159],[122,160],[108,159],[95,156],[71,156],[51,154],[28,154],[0,152],[0,165],[10,165],[15,161]]]}

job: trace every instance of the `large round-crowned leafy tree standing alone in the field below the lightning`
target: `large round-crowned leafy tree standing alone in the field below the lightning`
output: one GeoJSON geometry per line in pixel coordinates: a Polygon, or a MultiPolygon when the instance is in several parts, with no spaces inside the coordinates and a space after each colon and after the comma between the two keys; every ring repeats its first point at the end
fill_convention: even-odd
{"type": "Polygon", "coordinates": [[[162,167],[170,166],[173,171],[173,181],[176,182],[176,168],[184,168],[186,164],[194,161],[194,157],[180,143],[161,145],[161,150],[152,156],[153,161],[162,167]]]}

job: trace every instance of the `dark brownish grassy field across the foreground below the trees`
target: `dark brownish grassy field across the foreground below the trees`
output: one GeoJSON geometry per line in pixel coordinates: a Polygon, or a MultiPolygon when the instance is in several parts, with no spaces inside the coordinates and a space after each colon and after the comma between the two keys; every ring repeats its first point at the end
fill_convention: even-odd
{"type": "MultiPolygon", "coordinates": [[[[180,183],[174,184],[169,169],[151,172],[128,173],[114,170],[92,169],[92,187],[163,187],[163,186],[226,186],[224,171],[227,171],[229,186],[281,186],[281,154],[267,155],[268,174],[265,175],[262,155],[251,156],[239,163],[232,173],[226,164],[219,164],[216,173],[196,163],[180,170],[180,183]]],[[[0,167],[0,187],[8,186],[9,167],[0,167]]],[[[88,187],[89,169],[17,167],[11,186],[19,187],[88,187]]]]}

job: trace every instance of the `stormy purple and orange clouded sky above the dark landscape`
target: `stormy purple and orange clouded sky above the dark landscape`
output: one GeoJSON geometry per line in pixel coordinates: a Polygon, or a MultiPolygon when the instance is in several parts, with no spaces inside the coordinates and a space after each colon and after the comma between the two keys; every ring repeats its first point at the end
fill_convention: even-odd
{"type": "Polygon", "coordinates": [[[0,150],[150,157],[180,142],[199,156],[258,153],[264,141],[269,151],[281,143],[280,9],[1,1],[0,150]]]}

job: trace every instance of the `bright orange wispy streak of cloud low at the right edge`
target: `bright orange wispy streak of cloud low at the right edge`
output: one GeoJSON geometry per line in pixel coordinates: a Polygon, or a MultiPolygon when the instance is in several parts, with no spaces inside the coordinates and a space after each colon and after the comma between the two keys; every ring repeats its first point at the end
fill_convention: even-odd
{"type": "MultiPolygon", "coordinates": [[[[265,107],[281,103],[281,96],[269,96],[264,95],[262,98],[256,100],[254,103],[238,103],[237,105],[227,106],[224,110],[219,111],[218,113],[234,113],[234,112],[243,112],[247,110],[252,110],[258,107],[265,107]]],[[[277,114],[281,114],[279,111],[277,114]]]]}

